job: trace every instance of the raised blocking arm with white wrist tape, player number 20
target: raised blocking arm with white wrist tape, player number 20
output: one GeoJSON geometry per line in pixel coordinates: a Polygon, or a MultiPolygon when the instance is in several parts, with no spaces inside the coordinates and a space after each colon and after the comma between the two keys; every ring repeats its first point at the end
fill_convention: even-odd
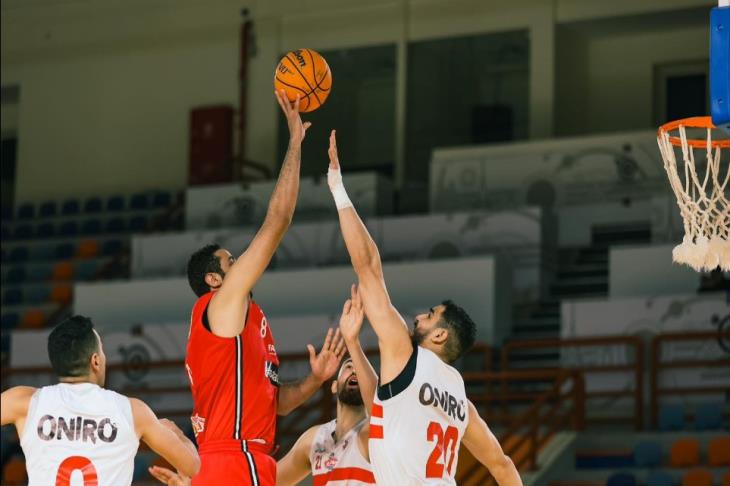
{"type": "Polygon", "coordinates": [[[365,314],[378,335],[380,379],[388,383],[403,370],[413,346],[403,317],[390,302],[378,247],[345,191],[334,130],[330,135],[329,158],[327,182],[335,198],[342,236],[360,284],[365,314]]]}

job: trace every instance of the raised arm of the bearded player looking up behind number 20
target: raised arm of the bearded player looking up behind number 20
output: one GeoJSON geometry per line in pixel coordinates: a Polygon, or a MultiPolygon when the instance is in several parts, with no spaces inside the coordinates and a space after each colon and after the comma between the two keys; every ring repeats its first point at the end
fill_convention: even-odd
{"type": "Polygon", "coordinates": [[[378,386],[378,375],[368,361],[365,352],[360,344],[360,329],[365,314],[362,307],[362,299],[357,285],[350,289],[350,299],[345,302],[340,316],[340,332],[345,340],[347,351],[350,353],[352,364],[357,374],[357,383],[360,387],[360,395],[365,405],[365,411],[370,415],[373,409],[373,398],[375,388],[378,386]]]}

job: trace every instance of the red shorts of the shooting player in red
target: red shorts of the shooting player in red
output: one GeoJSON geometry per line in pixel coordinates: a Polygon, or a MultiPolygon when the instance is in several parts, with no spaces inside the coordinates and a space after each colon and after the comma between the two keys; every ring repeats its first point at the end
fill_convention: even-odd
{"type": "Polygon", "coordinates": [[[205,444],[193,486],[275,486],[276,460],[262,450],[241,441],[205,444]]]}

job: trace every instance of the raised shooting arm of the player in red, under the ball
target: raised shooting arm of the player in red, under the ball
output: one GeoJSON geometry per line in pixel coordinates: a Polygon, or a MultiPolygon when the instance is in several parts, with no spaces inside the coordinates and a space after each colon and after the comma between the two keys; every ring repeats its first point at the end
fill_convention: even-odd
{"type": "Polygon", "coordinates": [[[243,330],[249,293],[289,228],[299,194],[302,140],[310,123],[302,123],[299,116],[299,97],[292,105],[285,94],[275,94],[289,124],[289,148],[261,228],[228,270],[208,306],[211,330],[221,337],[234,337],[243,330]]]}

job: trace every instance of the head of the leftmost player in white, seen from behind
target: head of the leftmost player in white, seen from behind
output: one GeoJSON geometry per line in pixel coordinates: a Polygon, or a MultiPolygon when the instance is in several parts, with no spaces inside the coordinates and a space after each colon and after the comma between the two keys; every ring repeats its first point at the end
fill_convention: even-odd
{"type": "Polygon", "coordinates": [[[48,336],[48,358],[60,379],[104,386],[106,355],[88,317],[71,316],[53,328],[48,336]]]}

